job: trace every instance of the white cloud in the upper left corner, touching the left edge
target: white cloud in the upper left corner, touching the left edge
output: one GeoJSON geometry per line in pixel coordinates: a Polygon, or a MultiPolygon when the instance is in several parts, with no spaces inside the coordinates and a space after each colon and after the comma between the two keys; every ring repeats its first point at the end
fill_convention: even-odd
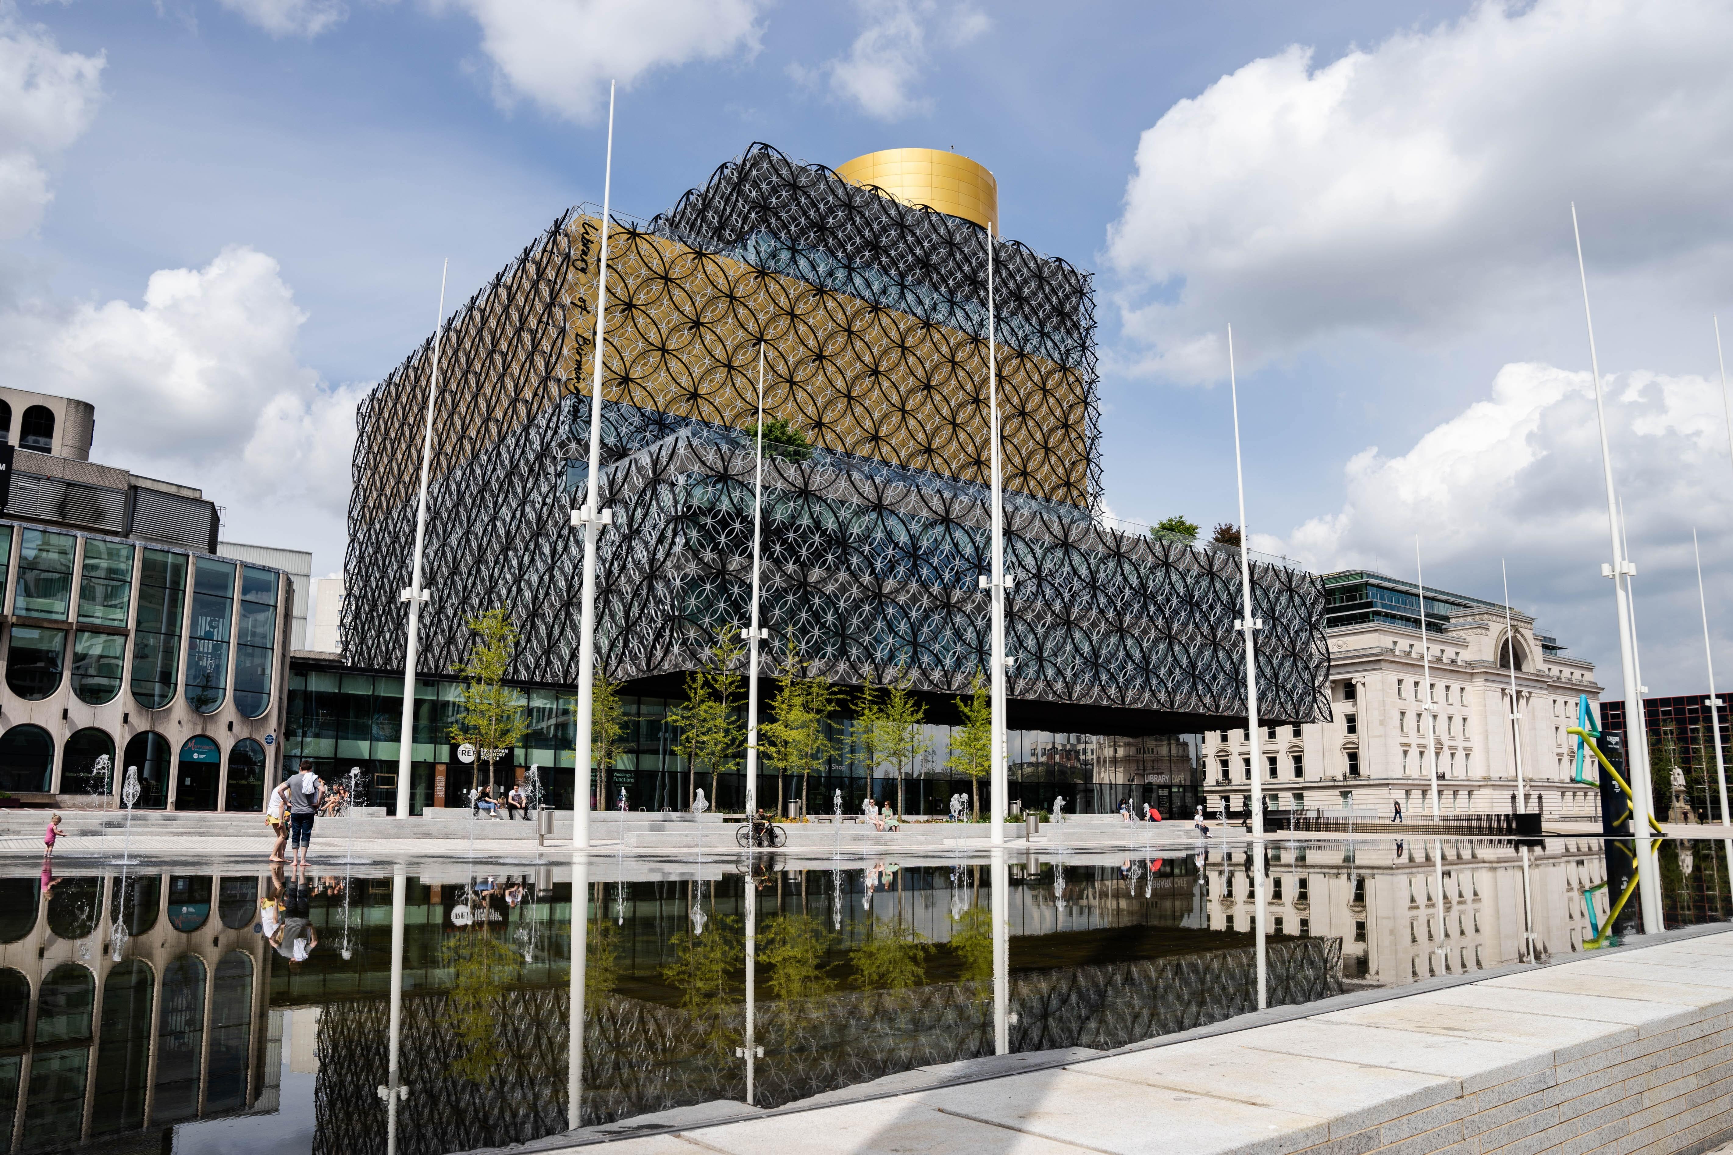
{"type": "Polygon", "coordinates": [[[49,166],[90,126],[102,55],[62,52],[0,3],[0,239],[31,232],[54,199],[49,166]]]}

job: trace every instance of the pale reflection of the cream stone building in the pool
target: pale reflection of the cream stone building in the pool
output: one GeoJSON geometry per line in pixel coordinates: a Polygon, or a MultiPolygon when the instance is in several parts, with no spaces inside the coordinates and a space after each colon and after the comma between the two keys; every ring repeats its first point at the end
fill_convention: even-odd
{"type": "MultiPolygon", "coordinates": [[[[1256,894],[1241,849],[1211,850],[1210,926],[1251,930],[1256,894]]],[[[1343,975],[1378,987],[1466,975],[1582,949],[1605,925],[1606,868],[1598,842],[1511,843],[1409,838],[1392,843],[1269,843],[1270,933],[1340,939],[1343,975]],[[1400,849],[1400,852],[1399,852],[1400,849]],[[1435,857],[1435,854],[1438,857],[1435,857]],[[1442,888],[1442,892],[1440,892],[1442,888]],[[1594,902],[1594,918],[1587,918],[1594,902]]]]}

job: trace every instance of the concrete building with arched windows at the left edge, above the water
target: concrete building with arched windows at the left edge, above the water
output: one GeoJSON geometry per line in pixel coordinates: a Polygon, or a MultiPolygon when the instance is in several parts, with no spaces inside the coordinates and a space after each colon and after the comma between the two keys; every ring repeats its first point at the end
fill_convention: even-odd
{"type": "Polygon", "coordinates": [[[0,791],[111,807],[139,767],[139,807],[258,810],[295,584],[218,558],[199,490],[88,461],[94,416],[0,388],[0,791]]]}

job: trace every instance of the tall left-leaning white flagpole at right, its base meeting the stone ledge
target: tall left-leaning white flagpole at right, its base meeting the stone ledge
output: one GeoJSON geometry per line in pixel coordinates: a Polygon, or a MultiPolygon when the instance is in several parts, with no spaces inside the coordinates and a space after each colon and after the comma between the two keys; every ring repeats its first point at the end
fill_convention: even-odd
{"type": "Polygon", "coordinates": [[[1601,362],[1594,352],[1594,315],[1589,312],[1589,270],[1582,260],[1582,229],[1577,225],[1577,206],[1570,206],[1570,232],[1577,241],[1577,275],[1582,279],[1582,319],[1589,331],[1589,371],[1594,377],[1594,417],[1601,431],[1601,474],[1606,483],[1606,535],[1612,544],[1612,565],[1603,565],[1601,573],[1613,580],[1613,608],[1619,615],[1619,660],[1626,691],[1626,772],[1631,783],[1631,835],[1636,845],[1638,899],[1643,907],[1643,933],[1658,933],[1660,918],[1660,878],[1655,871],[1653,847],[1650,845],[1650,803],[1652,786],[1648,781],[1648,734],[1643,717],[1643,682],[1636,668],[1636,636],[1631,625],[1631,589],[1629,580],[1634,566],[1626,561],[1624,542],[1619,535],[1619,494],[1613,488],[1613,457],[1606,443],[1606,403],[1601,395],[1601,362]]]}

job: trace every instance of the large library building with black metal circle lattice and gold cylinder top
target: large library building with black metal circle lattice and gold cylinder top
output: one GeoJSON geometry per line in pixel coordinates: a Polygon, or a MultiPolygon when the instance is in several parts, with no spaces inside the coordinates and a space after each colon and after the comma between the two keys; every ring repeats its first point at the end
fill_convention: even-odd
{"type": "MultiPolygon", "coordinates": [[[[681,803],[645,778],[667,758],[653,719],[717,634],[749,618],[761,355],[764,412],[797,429],[764,464],[768,674],[792,660],[846,689],[901,681],[943,726],[986,670],[984,225],[996,185],[943,152],[856,168],[894,187],[754,145],[674,210],[610,225],[601,504],[613,519],[596,637],[646,726],[636,762],[613,767],[639,803],[681,803]]],[[[594,216],[560,216],[440,339],[419,649],[430,679],[464,656],[466,618],[492,606],[522,632],[511,675],[525,689],[568,693],[582,674],[570,513],[587,478],[598,241],[594,216]]],[[[1076,798],[1094,783],[1078,781],[1083,760],[1066,748],[1196,734],[1244,710],[1239,559],[1099,519],[1090,277],[1016,241],[996,241],[991,260],[1016,578],[1010,724],[1029,736],[1012,738],[1012,760],[1076,798]],[[1021,758],[1019,741],[1031,752],[1021,758]]],[[[357,419],[341,639],[357,674],[402,663],[432,369],[430,338],[357,419]]],[[[1317,577],[1260,561],[1253,580],[1265,712],[1322,717],[1317,577]]],[[[393,729],[371,741],[374,757],[381,743],[395,757],[393,729]]],[[[416,795],[437,803],[445,736],[416,734],[416,795]]]]}

